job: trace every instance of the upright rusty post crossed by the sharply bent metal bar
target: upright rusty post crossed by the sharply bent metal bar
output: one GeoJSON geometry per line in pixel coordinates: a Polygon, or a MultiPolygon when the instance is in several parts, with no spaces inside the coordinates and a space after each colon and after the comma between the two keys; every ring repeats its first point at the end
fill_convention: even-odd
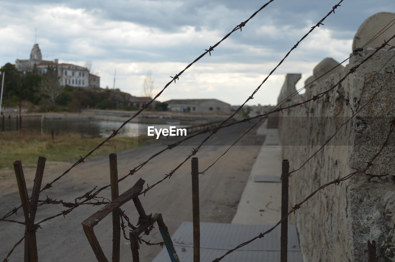
{"type": "MultiPolygon", "coordinates": [[[[53,129],[52,129],[53,130],[53,129]]],[[[111,180],[111,201],[119,197],[118,190],[118,165],[117,154],[110,154],[110,180],[111,180]]],[[[119,262],[120,258],[120,215],[119,208],[113,211],[113,262],[119,262]]]]}

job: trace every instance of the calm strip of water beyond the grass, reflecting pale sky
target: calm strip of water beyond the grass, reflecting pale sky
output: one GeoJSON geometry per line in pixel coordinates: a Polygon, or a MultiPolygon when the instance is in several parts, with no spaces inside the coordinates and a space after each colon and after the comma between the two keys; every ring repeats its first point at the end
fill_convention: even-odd
{"type": "MultiPolygon", "coordinates": [[[[122,122],[102,121],[102,120],[65,120],[65,119],[45,119],[43,120],[43,131],[50,133],[54,129],[55,134],[73,132],[89,136],[108,137],[117,130],[122,122]]],[[[167,125],[167,124],[145,124],[145,123],[127,123],[119,131],[121,137],[137,137],[139,135],[147,135],[147,127],[154,126],[156,129],[169,128],[176,126],[177,128],[187,127],[188,125],[167,125]]]]}

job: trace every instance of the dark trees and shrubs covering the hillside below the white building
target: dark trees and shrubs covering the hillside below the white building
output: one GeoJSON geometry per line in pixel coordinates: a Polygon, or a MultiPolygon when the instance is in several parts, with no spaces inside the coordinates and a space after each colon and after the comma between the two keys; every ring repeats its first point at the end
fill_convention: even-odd
{"type": "MultiPolygon", "coordinates": [[[[7,63],[0,72],[5,72],[3,106],[16,107],[22,101],[25,107],[41,112],[76,112],[84,108],[139,110],[130,103],[131,95],[119,89],[83,89],[61,86],[58,83],[56,68],[48,66],[44,75],[33,72],[24,74],[15,66],[7,63]]],[[[153,80],[149,78],[145,83],[147,92],[152,92],[153,80]],[[148,81],[148,82],[147,82],[148,81]]],[[[148,110],[166,111],[167,104],[159,103],[148,110]]]]}

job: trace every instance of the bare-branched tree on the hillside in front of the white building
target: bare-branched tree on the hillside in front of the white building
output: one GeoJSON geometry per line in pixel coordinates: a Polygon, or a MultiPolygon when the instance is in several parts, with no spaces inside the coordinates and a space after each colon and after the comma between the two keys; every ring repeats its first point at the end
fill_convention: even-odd
{"type": "Polygon", "coordinates": [[[63,89],[64,87],[59,83],[57,68],[48,66],[47,72],[38,86],[38,91],[55,106],[56,98],[63,92],[63,89]]]}

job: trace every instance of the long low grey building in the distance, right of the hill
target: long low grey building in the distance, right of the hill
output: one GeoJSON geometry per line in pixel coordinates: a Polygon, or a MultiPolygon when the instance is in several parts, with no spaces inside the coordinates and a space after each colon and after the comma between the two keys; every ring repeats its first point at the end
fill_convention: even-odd
{"type": "Polygon", "coordinates": [[[169,104],[168,109],[174,112],[231,112],[230,104],[218,99],[172,99],[164,103],[169,104]]]}

